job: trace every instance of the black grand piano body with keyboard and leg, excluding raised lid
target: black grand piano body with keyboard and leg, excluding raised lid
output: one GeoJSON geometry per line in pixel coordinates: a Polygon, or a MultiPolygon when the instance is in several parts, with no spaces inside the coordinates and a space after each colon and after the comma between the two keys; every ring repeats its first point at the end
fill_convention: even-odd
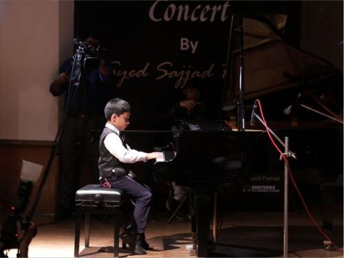
{"type": "Polygon", "coordinates": [[[194,248],[199,257],[206,257],[213,194],[237,180],[242,165],[237,150],[244,135],[222,120],[181,120],[173,136],[175,149],[163,150],[165,158],[157,160],[153,175],[157,182],[173,181],[191,189],[194,248]]]}

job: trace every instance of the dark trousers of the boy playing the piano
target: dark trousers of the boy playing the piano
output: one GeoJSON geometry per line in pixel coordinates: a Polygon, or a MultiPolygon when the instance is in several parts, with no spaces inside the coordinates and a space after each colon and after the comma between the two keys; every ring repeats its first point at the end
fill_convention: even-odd
{"type": "Polygon", "coordinates": [[[151,202],[153,193],[149,186],[140,184],[133,180],[129,175],[125,175],[116,181],[111,181],[111,188],[121,189],[135,202],[135,208],[133,210],[133,217],[138,228],[138,233],[143,234],[147,226],[149,217],[149,211],[151,208],[151,202]]]}

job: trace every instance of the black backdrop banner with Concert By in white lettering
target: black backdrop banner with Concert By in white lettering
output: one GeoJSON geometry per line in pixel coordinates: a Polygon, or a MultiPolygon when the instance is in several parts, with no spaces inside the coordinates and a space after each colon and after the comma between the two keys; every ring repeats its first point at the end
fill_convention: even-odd
{"type": "Polygon", "coordinates": [[[129,129],[169,129],[169,111],[191,84],[207,118],[221,118],[231,15],[230,1],[75,1],[75,32],[102,35],[109,98],[131,104],[129,129]]]}

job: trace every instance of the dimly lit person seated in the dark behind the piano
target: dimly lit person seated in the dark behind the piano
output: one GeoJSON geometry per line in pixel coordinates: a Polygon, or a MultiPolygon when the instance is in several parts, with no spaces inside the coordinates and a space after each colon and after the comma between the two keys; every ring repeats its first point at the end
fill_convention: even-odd
{"type": "MultiPolygon", "coordinates": [[[[186,85],[182,90],[183,99],[176,103],[171,109],[171,118],[173,120],[197,120],[204,119],[205,107],[200,102],[200,88],[193,84],[186,85]]],[[[186,186],[176,186],[175,182],[171,182],[173,192],[171,190],[169,198],[166,200],[166,208],[168,211],[174,211],[179,204],[188,196],[189,188],[186,186]]],[[[187,215],[187,207],[182,207],[180,213],[175,216],[177,219],[184,219],[187,215]]]]}

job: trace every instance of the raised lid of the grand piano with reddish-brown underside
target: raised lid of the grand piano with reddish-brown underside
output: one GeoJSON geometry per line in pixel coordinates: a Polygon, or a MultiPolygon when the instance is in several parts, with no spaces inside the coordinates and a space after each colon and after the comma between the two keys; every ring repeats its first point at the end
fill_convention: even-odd
{"type": "MultiPolygon", "coordinates": [[[[283,40],[287,15],[250,15],[243,19],[245,100],[266,94],[297,88],[300,80],[309,85],[338,76],[330,62],[297,50],[283,40]]],[[[237,101],[239,85],[239,25],[233,23],[230,78],[224,105],[237,101]]]]}

